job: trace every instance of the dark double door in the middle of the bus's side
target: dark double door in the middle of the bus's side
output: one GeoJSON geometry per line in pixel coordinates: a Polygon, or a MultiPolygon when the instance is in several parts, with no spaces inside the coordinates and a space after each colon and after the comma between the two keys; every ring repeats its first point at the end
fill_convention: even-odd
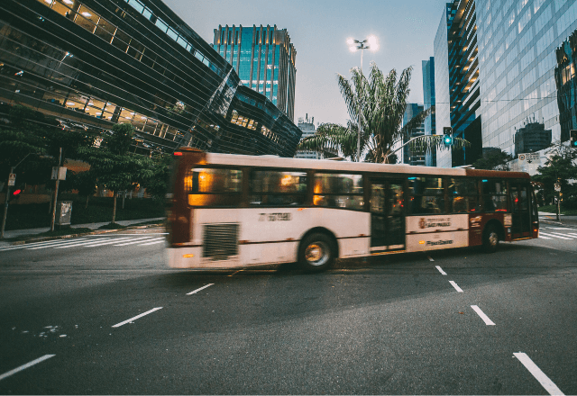
{"type": "Polygon", "coordinates": [[[371,180],[371,251],[405,248],[403,180],[371,180]]]}

